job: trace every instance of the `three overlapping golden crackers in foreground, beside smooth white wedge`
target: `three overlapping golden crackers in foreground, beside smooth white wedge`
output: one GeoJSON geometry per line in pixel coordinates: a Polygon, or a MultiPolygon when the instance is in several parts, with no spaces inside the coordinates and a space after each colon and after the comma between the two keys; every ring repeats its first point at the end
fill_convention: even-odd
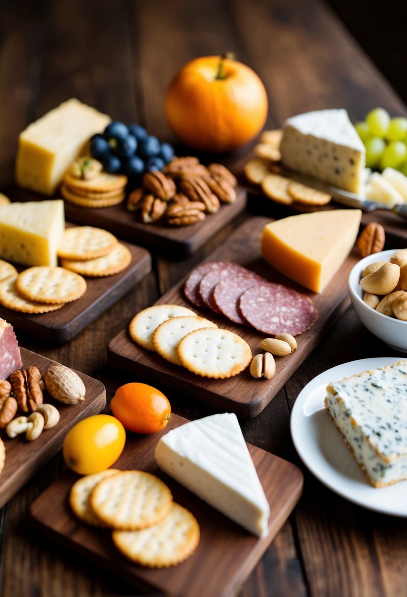
{"type": "Polygon", "coordinates": [[[115,546],[149,568],[180,564],[199,543],[199,525],[158,477],[141,470],[107,469],[76,481],[70,506],[80,521],[109,528],[115,546]]]}

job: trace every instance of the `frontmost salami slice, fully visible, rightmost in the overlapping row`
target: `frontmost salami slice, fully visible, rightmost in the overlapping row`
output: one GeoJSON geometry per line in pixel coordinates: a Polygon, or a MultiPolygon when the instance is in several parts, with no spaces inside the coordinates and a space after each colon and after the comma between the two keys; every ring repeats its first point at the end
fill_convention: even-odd
{"type": "Polygon", "coordinates": [[[240,297],[239,307],[249,324],[272,336],[302,334],[318,316],[310,298],[281,284],[249,288],[240,297]]]}

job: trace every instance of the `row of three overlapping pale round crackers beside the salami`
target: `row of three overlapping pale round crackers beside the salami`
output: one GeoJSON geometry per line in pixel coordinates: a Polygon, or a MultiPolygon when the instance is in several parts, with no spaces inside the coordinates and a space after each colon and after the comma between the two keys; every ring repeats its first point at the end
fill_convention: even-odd
{"type": "Polygon", "coordinates": [[[132,319],[137,344],[202,377],[226,378],[243,371],[252,353],[243,338],[177,304],[148,307],[132,319]]]}

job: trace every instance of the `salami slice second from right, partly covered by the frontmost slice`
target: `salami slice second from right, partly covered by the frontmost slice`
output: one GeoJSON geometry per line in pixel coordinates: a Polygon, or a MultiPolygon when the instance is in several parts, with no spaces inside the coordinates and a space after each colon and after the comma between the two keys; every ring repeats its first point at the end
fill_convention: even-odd
{"type": "Polygon", "coordinates": [[[236,324],[249,325],[239,308],[239,298],[245,290],[255,285],[266,284],[267,280],[256,274],[225,278],[214,288],[214,301],[221,313],[236,324]]]}

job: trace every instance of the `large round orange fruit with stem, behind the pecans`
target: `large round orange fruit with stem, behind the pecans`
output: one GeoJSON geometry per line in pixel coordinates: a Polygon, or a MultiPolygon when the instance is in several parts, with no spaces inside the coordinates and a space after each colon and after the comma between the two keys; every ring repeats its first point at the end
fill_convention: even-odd
{"type": "Polygon", "coordinates": [[[268,110],[263,83],[248,66],[220,56],[187,63],[165,96],[169,127],[194,149],[228,152],[253,139],[268,110]]]}

